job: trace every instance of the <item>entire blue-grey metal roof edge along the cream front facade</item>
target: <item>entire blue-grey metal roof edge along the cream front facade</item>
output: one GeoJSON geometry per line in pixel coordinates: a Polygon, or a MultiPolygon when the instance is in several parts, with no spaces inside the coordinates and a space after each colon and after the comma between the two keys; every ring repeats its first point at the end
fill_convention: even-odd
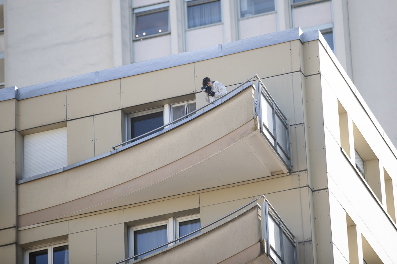
{"type": "Polygon", "coordinates": [[[134,76],[145,72],[152,72],[165,68],[171,68],[174,66],[195,63],[197,61],[204,61],[207,59],[213,59],[216,57],[222,57],[233,53],[271,46],[298,39],[302,42],[304,40],[304,34],[301,28],[291,28],[261,36],[255,36],[252,38],[246,38],[243,40],[219,44],[216,46],[177,53],[166,57],[151,59],[148,61],[132,63],[129,65],[109,68],[106,70],[100,70],[41,84],[21,87],[17,89],[17,93],[13,95],[14,97],[10,95],[10,87],[8,87],[10,89],[4,88],[7,89],[6,91],[3,91],[4,89],[0,89],[0,101],[8,100],[11,98],[22,100],[40,95],[46,95],[49,93],[56,93],[59,91],[65,91],[68,89],[96,84],[99,82],[107,82],[110,80],[134,76]]]}

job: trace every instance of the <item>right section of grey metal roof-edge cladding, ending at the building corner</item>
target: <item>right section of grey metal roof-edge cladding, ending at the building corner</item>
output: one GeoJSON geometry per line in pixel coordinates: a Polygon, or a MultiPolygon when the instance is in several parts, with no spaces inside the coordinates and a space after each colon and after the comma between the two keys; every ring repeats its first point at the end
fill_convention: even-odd
{"type": "Polygon", "coordinates": [[[266,35],[245,38],[222,44],[222,55],[229,55],[259,47],[266,47],[274,44],[288,42],[290,40],[298,40],[301,37],[301,29],[291,28],[287,30],[277,31],[266,35]]]}

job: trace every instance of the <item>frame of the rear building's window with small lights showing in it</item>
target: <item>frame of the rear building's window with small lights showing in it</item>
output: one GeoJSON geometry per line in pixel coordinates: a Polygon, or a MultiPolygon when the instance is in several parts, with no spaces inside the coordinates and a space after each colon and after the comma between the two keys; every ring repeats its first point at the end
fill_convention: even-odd
{"type": "Polygon", "coordinates": [[[145,40],[148,38],[154,38],[158,36],[163,36],[163,35],[168,35],[171,34],[171,28],[170,28],[170,2],[163,2],[160,4],[154,4],[150,6],[143,6],[139,8],[132,8],[132,15],[133,15],[133,25],[131,28],[131,34],[132,34],[132,41],[140,41],[140,40],[145,40]],[[156,34],[151,34],[148,36],[140,36],[140,37],[135,37],[136,36],[136,26],[137,26],[137,16],[139,15],[145,15],[145,14],[150,14],[150,13],[156,13],[159,11],[168,11],[168,30],[166,32],[159,32],[156,34]]]}

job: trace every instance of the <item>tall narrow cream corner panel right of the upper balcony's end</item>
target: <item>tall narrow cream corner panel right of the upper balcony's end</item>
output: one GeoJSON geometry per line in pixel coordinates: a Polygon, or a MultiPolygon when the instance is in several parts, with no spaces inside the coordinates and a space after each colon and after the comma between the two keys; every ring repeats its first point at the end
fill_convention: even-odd
{"type": "Polygon", "coordinates": [[[327,184],[327,164],[324,140],[324,119],[320,74],[306,77],[307,125],[310,144],[312,188],[322,189],[327,184]]]}

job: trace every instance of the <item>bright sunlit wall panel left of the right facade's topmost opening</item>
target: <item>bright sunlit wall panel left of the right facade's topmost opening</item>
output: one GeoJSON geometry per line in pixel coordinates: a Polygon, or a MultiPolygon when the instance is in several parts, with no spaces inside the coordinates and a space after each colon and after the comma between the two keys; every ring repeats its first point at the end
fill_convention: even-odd
{"type": "Polygon", "coordinates": [[[333,93],[328,82],[321,77],[321,91],[322,91],[322,105],[323,105],[323,118],[324,127],[326,127],[338,142],[341,144],[341,133],[339,131],[339,112],[338,112],[338,99],[333,93]]]}

